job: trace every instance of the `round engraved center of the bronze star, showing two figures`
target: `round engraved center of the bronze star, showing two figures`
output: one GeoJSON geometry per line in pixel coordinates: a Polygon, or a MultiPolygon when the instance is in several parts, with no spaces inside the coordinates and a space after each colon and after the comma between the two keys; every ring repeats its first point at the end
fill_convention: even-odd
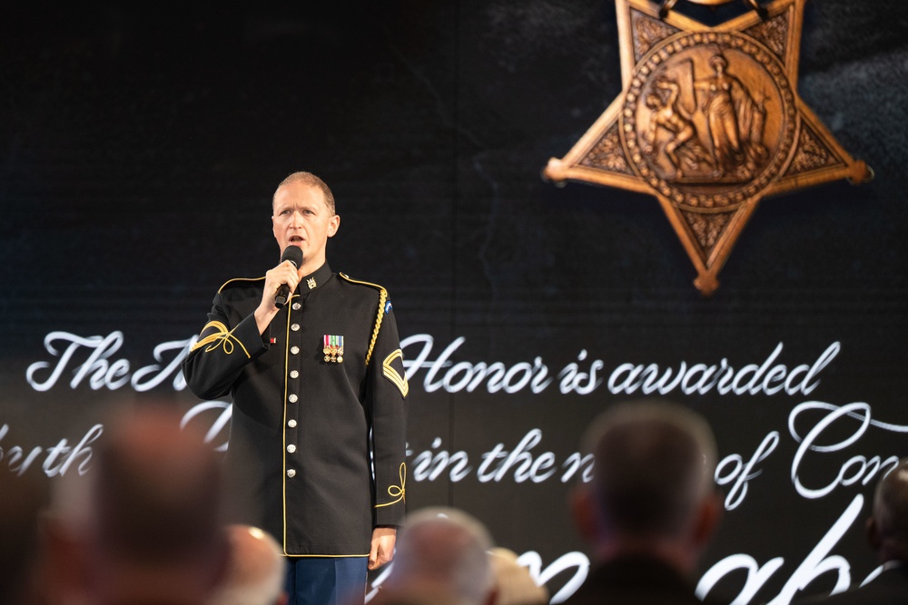
{"type": "Polygon", "coordinates": [[[621,121],[637,173],[695,212],[734,210],[765,190],[797,128],[775,55],[743,34],[716,32],[656,44],[634,73],[621,121]]]}

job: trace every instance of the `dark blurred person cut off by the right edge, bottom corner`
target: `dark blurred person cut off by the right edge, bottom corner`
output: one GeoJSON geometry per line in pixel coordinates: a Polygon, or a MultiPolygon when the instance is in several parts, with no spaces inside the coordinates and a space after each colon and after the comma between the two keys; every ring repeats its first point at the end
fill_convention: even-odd
{"type": "Polygon", "coordinates": [[[867,520],[867,542],[883,571],[864,586],[825,599],[803,602],[828,605],[908,603],[908,458],[876,485],[873,513],[867,520]]]}

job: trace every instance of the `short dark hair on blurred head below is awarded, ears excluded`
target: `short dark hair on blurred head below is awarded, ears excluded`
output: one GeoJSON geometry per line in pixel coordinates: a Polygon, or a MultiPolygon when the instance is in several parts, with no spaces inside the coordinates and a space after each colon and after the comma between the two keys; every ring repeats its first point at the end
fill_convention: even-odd
{"type": "Polygon", "coordinates": [[[681,405],[616,405],[584,444],[595,455],[593,493],[610,532],[677,537],[713,491],[715,439],[706,420],[681,405]]]}

